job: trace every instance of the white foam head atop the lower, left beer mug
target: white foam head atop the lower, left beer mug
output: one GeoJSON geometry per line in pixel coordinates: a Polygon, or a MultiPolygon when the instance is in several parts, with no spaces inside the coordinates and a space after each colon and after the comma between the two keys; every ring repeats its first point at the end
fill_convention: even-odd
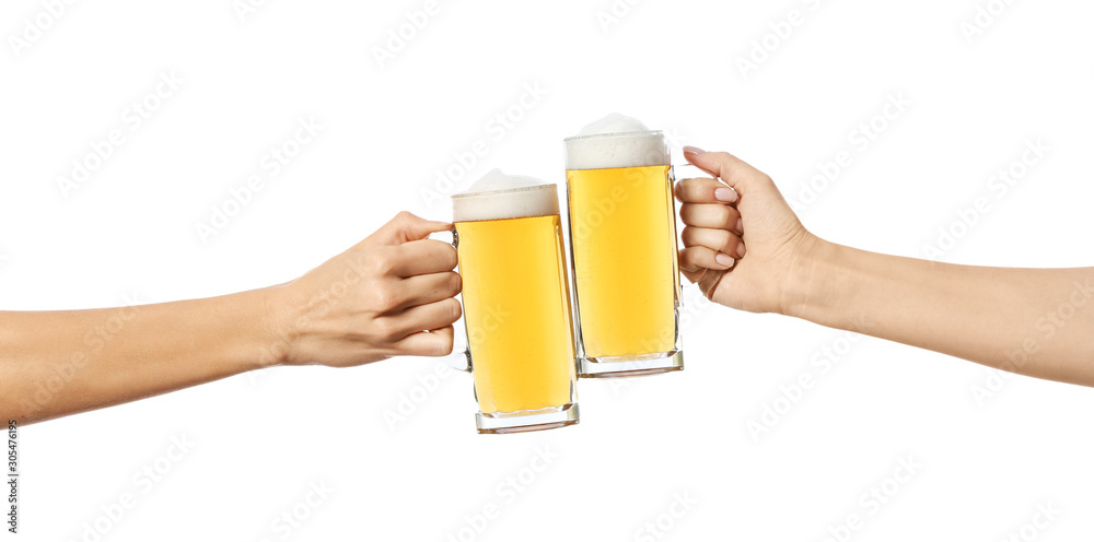
{"type": "Polygon", "coordinates": [[[465,192],[452,196],[452,220],[520,219],[558,214],[558,192],[554,184],[532,177],[505,175],[493,169],[465,192]]]}

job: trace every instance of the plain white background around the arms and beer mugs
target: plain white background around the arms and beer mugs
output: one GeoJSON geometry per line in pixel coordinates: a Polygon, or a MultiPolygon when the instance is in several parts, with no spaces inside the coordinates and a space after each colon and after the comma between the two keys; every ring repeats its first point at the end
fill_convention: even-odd
{"type": "MultiPolygon", "coordinates": [[[[18,54],[11,36],[45,9],[3,2],[0,307],[287,281],[398,210],[446,220],[446,200],[423,189],[449,193],[492,167],[561,182],[560,140],[614,110],[734,152],[788,199],[849,151],[801,213],[831,240],[923,257],[984,197],[990,212],[958,227],[942,260],[1090,266],[1094,7],[1017,1],[969,42],[962,24],[986,2],[620,1],[605,28],[608,0],[441,1],[383,66],[374,48],[423,2],[280,0],[242,19],[230,0],[77,2],[18,54]],[[792,10],[802,24],[743,74],[738,58],[792,10]],[[183,84],[132,131],[127,107],[171,72],[183,84]],[[525,85],[547,93],[489,131],[525,85]],[[906,111],[868,149],[852,144],[900,93],[906,111]],[[264,155],[310,116],[323,130],[271,177],[264,155]],[[65,197],[57,177],[115,128],[124,144],[65,197]],[[1005,196],[990,189],[1037,138],[1045,157],[1005,196]],[[476,140],[485,155],[439,187],[476,140]],[[253,174],[265,189],[202,241],[196,224],[253,174]]],[[[400,394],[422,399],[419,377],[439,364],[427,358],[277,368],[25,427],[19,537],[80,540],[97,520],[103,540],[275,541],[295,508],[307,518],[291,540],[444,541],[488,504],[499,517],[462,540],[661,540],[638,533],[660,519],[664,540],[819,541],[849,514],[852,540],[1094,537],[1094,391],[1014,377],[978,402],[990,373],[974,364],[868,338],[848,350],[841,332],[687,291],[687,369],[580,382],[575,427],[479,436],[470,378],[453,374],[393,429],[383,413],[400,394]],[[827,372],[813,363],[825,347],[845,352],[827,372]],[[816,385],[780,400],[805,373],[816,385]],[[782,414],[754,438],[765,406],[782,414]],[[144,492],[133,474],[172,436],[194,446],[160,459],[170,472],[144,492]],[[522,474],[536,447],[557,458],[522,474]],[[921,468],[887,480],[909,455],[921,468]],[[512,502],[497,491],[522,475],[512,502]],[[298,506],[319,480],[334,493],[298,506]],[[895,495],[875,507],[861,498],[874,486],[895,495]],[[102,519],[126,493],[136,506],[102,519]],[[674,494],[695,503],[673,508],[674,494]],[[1062,512],[1023,532],[1045,526],[1044,503],[1062,512]]]]}

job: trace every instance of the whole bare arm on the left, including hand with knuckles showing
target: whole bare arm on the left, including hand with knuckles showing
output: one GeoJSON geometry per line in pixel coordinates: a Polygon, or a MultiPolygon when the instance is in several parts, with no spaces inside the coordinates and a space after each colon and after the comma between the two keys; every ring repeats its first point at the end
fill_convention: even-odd
{"type": "Polygon", "coordinates": [[[0,417],[50,420],[270,365],[444,355],[459,317],[449,224],[401,213],[304,276],[156,305],[0,311],[0,417]]]}

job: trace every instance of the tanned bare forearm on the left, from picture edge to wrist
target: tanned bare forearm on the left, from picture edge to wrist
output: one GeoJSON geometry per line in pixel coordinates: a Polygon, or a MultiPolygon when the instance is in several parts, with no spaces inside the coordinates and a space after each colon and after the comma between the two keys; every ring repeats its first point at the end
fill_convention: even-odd
{"type": "Polygon", "coordinates": [[[264,291],[124,308],[0,311],[0,417],[33,423],[256,368],[264,291]]]}

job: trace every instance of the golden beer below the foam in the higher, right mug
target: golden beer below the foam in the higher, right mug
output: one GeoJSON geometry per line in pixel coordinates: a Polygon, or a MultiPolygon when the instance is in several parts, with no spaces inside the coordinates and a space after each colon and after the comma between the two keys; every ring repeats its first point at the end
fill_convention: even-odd
{"type": "Polygon", "coordinates": [[[676,215],[668,166],[566,174],[573,276],[589,357],[676,344],[676,215]]]}

